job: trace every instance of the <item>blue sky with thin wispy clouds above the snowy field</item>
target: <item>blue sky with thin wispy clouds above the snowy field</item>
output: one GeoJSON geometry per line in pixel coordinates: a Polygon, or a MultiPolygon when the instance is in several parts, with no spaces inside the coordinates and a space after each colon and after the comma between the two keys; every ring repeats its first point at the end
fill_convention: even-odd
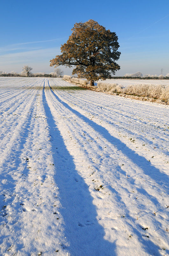
{"type": "MultiPolygon", "coordinates": [[[[169,1],[0,1],[0,70],[53,72],[49,60],[60,54],[75,22],[96,20],[116,32],[121,69],[169,73],[169,1]]],[[[71,69],[61,67],[64,74],[71,69]]]]}

